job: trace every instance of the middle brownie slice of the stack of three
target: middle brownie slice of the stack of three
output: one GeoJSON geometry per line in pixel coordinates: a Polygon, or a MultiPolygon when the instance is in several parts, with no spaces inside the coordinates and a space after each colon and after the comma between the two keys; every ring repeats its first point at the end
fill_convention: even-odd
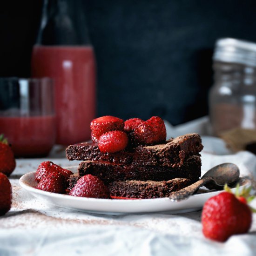
{"type": "Polygon", "coordinates": [[[174,167],[86,161],[80,163],[78,173],[80,177],[86,174],[95,175],[105,183],[126,180],[168,181],[174,178],[197,181],[201,176],[201,158],[199,155],[192,155],[182,166],[174,167]]]}

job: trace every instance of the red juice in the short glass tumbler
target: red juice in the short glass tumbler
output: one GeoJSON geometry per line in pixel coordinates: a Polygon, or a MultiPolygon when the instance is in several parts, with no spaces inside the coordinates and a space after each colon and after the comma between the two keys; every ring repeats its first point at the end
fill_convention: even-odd
{"type": "Polygon", "coordinates": [[[0,116],[0,134],[12,144],[15,156],[46,156],[55,142],[55,116],[0,116]]]}

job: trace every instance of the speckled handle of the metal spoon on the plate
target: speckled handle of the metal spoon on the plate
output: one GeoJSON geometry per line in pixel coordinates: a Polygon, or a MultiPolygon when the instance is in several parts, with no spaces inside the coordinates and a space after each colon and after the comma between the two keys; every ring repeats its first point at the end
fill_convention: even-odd
{"type": "Polygon", "coordinates": [[[169,196],[169,199],[173,202],[182,201],[182,200],[188,198],[190,195],[193,195],[195,193],[195,191],[197,189],[199,189],[202,185],[204,185],[205,183],[210,182],[212,180],[213,179],[210,177],[205,177],[184,189],[181,189],[179,191],[171,193],[169,196]]]}

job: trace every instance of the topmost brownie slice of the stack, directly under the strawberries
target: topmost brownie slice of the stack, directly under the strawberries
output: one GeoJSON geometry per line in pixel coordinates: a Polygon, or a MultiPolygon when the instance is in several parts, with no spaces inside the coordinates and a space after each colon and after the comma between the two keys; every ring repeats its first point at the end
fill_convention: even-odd
{"type": "Polygon", "coordinates": [[[189,155],[202,150],[201,137],[187,134],[154,146],[138,146],[117,153],[102,153],[96,143],[84,142],[66,149],[68,160],[105,161],[122,164],[181,166],[189,155]]]}

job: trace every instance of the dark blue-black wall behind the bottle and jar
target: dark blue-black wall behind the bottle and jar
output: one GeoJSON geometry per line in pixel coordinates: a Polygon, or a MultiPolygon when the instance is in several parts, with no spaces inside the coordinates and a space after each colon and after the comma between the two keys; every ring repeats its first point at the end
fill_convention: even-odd
{"type": "MultiPolygon", "coordinates": [[[[0,76],[30,74],[41,0],[1,1],[0,76]]],[[[255,0],[83,1],[98,73],[98,116],[176,125],[206,115],[216,39],[256,41],[255,0]]]]}

